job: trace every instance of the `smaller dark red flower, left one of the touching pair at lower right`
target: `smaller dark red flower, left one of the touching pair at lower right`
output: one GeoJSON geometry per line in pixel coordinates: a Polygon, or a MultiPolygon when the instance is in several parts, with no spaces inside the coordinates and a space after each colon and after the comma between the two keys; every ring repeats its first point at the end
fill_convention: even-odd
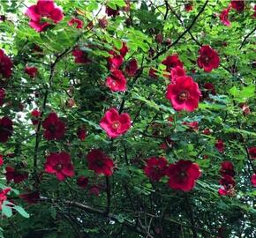
{"type": "Polygon", "coordinates": [[[152,181],[160,181],[165,175],[167,160],[163,157],[152,157],[146,160],[147,166],[144,167],[144,173],[152,181]]]}

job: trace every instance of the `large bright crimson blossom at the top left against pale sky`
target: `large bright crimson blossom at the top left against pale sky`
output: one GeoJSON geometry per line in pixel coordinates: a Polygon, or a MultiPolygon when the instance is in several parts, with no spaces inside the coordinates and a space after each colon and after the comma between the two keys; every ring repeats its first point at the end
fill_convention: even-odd
{"type": "Polygon", "coordinates": [[[30,19],[29,26],[37,32],[42,32],[50,26],[44,18],[58,23],[64,18],[63,11],[56,7],[53,0],[39,0],[37,4],[31,5],[26,10],[26,16],[30,19]]]}

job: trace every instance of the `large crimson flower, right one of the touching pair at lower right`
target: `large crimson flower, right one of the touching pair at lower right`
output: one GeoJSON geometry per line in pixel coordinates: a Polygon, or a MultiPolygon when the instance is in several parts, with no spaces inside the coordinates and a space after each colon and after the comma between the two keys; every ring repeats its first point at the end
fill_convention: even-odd
{"type": "Polygon", "coordinates": [[[192,190],[201,175],[199,165],[191,160],[179,160],[170,164],[166,171],[169,176],[169,188],[174,190],[192,190]]]}

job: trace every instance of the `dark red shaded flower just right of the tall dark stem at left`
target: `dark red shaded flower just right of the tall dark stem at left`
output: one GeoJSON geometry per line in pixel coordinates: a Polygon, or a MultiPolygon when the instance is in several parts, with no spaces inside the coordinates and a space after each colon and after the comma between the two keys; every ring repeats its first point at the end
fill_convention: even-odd
{"type": "Polygon", "coordinates": [[[41,123],[44,128],[43,137],[47,140],[59,140],[64,137],[65,124],[58,118],[56,113],[50,113],[41,123]]]}

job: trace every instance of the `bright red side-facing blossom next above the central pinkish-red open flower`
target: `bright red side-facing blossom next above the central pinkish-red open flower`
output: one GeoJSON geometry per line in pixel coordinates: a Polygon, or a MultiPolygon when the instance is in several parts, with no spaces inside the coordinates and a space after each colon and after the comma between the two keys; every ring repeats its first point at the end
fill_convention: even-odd
{"type": "Polygon", "coordinates": [[[126,78],[122,71],[112,69],[111,74],[106,78],[106,85],[113,92],[124,92],[126,91],[126,78]]]}

